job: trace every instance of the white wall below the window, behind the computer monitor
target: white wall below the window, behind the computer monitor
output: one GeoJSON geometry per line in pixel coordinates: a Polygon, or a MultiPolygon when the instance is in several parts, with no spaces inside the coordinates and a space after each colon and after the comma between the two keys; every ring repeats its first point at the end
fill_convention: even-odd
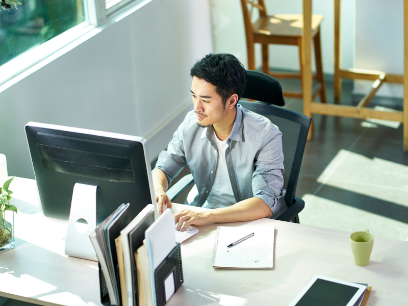
{"type": "Polygon", "coordinates": [[[153,0],[30,74],[0,93],[9,175],[34,178],[29,121],[147,137],[156,157],[191,109],[191,66],[211,51],[207,0],[153,0]]]}

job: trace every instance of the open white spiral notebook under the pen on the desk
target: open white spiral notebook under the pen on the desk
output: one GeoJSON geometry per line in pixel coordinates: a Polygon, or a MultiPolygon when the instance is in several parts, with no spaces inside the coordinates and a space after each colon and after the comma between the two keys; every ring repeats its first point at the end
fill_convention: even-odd
{"type": "Polygon", "coordinates": [[[218,226],[213,251],[213,267],[230,269],[273,268],[274,226],[218,226]],[[232,247],[227,245],[253,233],[232,247]]]}

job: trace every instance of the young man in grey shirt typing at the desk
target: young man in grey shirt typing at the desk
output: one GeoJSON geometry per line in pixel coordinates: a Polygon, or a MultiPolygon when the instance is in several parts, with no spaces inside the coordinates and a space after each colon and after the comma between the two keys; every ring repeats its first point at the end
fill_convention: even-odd
{"type": "Polygon", "coordinates": [[[195,187],[186,204],[210,208],[174,214],[177,230],[209,222],[249,221],[272,216],[286,190],[282,133],[267,118],[237,105],[246,70],[230,54],[209,54],[190,71],[194,111],[174,133],[152,171],[159,213],[171,208],[168,185],[185,165],[195,187]]]}

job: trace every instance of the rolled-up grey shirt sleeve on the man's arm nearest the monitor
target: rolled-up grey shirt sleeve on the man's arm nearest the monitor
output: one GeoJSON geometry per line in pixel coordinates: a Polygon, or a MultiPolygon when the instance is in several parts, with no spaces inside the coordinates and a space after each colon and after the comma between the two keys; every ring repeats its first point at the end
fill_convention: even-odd
{"type": "Polygon", "coordinates": [[[159,159],[155,166],[155,169],[160,169],[166,174],[169,185],[174,177],[187,165],[183,142],[183,123],[179,126],[179,129],[174,132],[173,139],[167,146],[167,150],[160,152],[159,159]]]}

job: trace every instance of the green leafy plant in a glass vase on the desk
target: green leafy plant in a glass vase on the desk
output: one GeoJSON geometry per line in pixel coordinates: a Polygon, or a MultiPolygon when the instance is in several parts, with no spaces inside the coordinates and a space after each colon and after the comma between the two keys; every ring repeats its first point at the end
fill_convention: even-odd
{"type": "Polygon", "coordinates": [[[17,208],[10,205],[13,192],[9,189],[14,177],[0,187],[0,253],[14,247],[14,212],[17,208]]]}

